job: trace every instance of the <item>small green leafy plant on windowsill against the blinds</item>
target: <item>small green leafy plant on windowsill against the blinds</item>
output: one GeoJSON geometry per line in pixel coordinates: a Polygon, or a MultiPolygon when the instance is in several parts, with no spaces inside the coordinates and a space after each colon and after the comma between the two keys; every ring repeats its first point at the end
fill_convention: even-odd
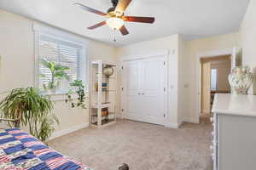
{"type": "MultiPolygon", "coordinates": [[[[51,79],[49,80],[48,84],[43,85],[44,90],[56,89],[62,79],[69,80],[66,72],[69,70],[69,67],[56,65],[54,61],[49,61],[47,59],[41,59],[41,65],[48,68],[51,73],[51,79]]],[[[41,74],[41,77],[46,77],[46,75],[41,74]]]]}

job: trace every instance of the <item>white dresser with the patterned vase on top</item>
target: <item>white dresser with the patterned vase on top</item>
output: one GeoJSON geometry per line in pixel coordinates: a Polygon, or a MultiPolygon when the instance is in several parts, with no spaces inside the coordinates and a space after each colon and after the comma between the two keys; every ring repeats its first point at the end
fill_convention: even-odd
{"type": "Polygon", "coordinates": [[[256,170],[256,96],[216,94],[212,118],[214,170],[256,170]]]}

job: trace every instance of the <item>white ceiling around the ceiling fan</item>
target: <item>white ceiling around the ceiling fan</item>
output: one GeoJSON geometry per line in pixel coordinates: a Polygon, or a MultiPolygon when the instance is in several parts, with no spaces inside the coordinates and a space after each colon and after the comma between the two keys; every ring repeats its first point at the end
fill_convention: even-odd
{"type": "Polygon", "coordinates": [[[0,8],[49,25],[72,31],[84,37],[119,47],[172,34],[183,34],[186,40],[238,31],[249,0],[133,0],[126,15],[154,16],[153,25],[125,23],[127,36],[102,26],[86,28],[104,20],[73,5],[83,3],[106,12],[111,0],[1,0],[0,8]]]}

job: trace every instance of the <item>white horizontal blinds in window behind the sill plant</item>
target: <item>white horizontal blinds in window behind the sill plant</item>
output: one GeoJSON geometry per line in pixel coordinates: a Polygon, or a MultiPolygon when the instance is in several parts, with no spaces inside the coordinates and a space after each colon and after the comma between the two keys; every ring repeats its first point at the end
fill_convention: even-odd
{"type": "Polygon", "coordinates": [[[68,84],[75,79],[80,78],[80,60],[83,47],[75,42],[68,42],[62,38],[52,37],[49,35],[40,34],[38,37],[38,54],[39,54],[39,88],[43,89],[44,84],[48,84],[51,80],[49,68],[41,64],[42,59],[55,62],[56,65],[67,66],[66,71],[70,77],[69,80],[61,79],[57,89],[59,93],[67,93],[68,84]]]}

